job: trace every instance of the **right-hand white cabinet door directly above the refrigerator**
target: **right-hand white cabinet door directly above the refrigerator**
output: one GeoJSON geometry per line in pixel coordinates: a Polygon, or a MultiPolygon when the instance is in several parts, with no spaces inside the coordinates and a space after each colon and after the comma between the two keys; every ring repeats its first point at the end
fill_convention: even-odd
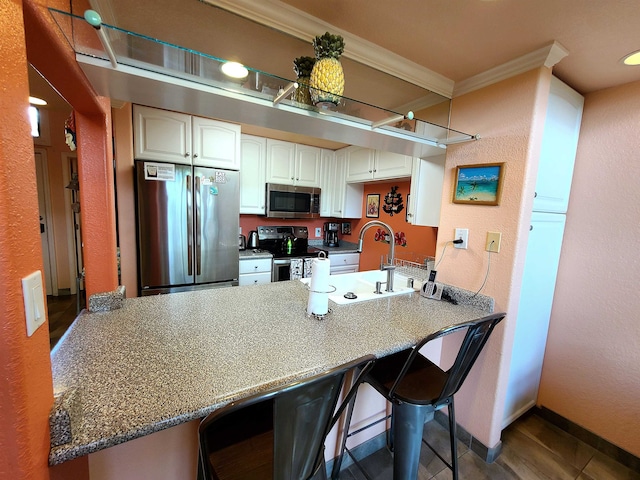
{"type": "Polygon", "coordinates": [[[240,125],[192,117],[193,164],[240,169],[240,125]]]}

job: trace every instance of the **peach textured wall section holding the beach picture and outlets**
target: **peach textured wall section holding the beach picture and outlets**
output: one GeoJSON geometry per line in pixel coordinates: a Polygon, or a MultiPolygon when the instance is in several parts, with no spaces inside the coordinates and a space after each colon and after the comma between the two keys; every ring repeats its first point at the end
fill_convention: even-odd
{"type": "MultiPolygon", "coordinates": [[[[487,447],[500,441],[504,398],[515,332],[524,251],[533,206],[537,158],[551,72],[532,70],[453,100],[451,127],[480,133],[481,140],[447,149],[445,187],[438,229],[437,258],[456,227],[469,229],[469,248],[449,244],[438,268],[439,280],[476,291],[487,267],[487,231],[502,232],[499,254],[492,254],[482,293],[508,316],[456,396],[457,421],[487,447]],[[505,163],[499,206],[451,203],[457,165],[505,163]]],[[[446,352],[445,352],[446,355],[446,352]]]]}

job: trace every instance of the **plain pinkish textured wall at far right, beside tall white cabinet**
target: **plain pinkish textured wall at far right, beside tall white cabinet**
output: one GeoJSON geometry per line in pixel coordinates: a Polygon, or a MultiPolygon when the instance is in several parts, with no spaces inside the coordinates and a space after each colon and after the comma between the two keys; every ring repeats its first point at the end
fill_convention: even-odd
{"type": "Polygon", "coordinates": [[[586,95],[538,402],[640,456],[640,82],[586,95]]]}

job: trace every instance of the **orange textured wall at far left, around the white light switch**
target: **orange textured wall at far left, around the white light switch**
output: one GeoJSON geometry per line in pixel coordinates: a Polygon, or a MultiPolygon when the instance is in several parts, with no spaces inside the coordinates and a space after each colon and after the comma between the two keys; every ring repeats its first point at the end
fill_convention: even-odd
{"type": "Polygon", "coordinates": [[[0,2],[0,27],[0,478],[38,480],[53,388],[48,324],[27,337],[20,282],[43,268],[22,2],[0,2]]]}

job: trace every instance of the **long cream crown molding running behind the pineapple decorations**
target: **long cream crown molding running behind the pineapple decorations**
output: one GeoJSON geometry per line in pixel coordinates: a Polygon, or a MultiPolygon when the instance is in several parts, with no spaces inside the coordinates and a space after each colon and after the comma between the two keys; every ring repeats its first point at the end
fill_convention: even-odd
{"type": "Polygon", "coordinates": [[[413,85],[451,98],[453,80],[411,62],[372,42],[323,22],[279,0],[200,0],[254,22],[311,43],[316,35],[330,31],[345,40],[344,57],[398,77],[413,85]]]}

